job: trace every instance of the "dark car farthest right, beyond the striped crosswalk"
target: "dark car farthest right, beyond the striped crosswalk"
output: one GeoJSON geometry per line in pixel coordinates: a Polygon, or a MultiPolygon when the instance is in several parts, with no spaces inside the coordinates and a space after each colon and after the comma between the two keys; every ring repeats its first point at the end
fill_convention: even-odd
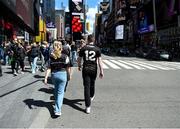
{"type": "Polygon", "coordinates": [[[172,54],[170,54],[168,51],[163,50],[163,49],[151,49],[147,55],[147,59],[152,59],[152,60],[167,60],[171,61],[172,60],[172,54]]]}

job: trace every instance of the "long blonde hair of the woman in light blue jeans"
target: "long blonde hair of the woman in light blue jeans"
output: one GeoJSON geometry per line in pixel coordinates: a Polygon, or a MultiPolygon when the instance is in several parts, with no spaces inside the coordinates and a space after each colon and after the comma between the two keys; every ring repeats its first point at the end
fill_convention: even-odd
{"type": "Polygon", "coordinates": [[[53,52],[51,53],[51,56],[54,59],[61,57],[61,51],[62,51],[62,43],[60,41],[54,41],[53,43],[53,52]]]}

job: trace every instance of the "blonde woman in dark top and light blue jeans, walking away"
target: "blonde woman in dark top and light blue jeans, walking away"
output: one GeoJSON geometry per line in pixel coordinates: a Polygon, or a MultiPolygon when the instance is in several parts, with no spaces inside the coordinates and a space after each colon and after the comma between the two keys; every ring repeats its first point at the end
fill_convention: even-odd
{"type": "Polygon", "coordinates": [[[47,84],[47,79],[51,73],[51,79],[55,86],[54,98],[56,116],[61,115],[61,107],[64,98],[64,89],[67,82],[67,75],[70,75],[69,69],[69,57],[62,53],[62,43],[60,41],[54,41],[53,50],[50,53],[49,66],[46,71],[44,83],[47,84]]]}

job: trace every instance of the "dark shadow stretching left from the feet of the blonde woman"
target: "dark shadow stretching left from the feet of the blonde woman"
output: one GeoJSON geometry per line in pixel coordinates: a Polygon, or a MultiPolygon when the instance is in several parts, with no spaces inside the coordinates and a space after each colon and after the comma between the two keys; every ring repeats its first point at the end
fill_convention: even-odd
{"type": "Polygon", "coordinates": [[[23,102],[31,110],[36,109],[37,107],[45,107],[49,110],[51,118],[57,118],[57,116],[54,115],[53,102],[44,102],[42,100],[34,100],[34,99],[26,99],[23,102]]]}

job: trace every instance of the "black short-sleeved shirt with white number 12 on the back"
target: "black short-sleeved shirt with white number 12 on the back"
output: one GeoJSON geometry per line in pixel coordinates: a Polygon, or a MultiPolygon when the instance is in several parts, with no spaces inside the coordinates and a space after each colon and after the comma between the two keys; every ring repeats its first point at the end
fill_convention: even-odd
{"type": "Polygon", "coordinates": [[[97,58],[101,57],[101,51],[98,47],[88,44],[81,48],[79,56],[83,57],[83,71],[88,73],[97,72],[97,58]]]}

